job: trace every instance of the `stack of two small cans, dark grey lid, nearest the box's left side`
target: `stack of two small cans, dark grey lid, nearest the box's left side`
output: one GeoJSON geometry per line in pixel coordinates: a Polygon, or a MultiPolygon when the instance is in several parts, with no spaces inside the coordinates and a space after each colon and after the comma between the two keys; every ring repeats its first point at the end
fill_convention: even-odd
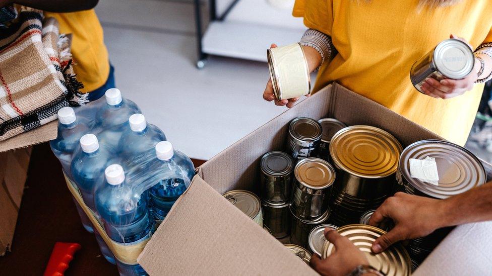
{"type": "Polygon", "coordinates": [[[294,164],[287,153],[272,151],[260,161],[260,195],[264,223],[276,238],[290,234],[289,201],[294,164]]]}

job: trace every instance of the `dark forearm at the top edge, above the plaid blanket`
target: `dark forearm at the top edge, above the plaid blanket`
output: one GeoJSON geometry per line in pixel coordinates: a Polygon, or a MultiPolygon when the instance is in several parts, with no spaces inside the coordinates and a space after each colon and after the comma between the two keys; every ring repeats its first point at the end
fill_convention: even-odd
{"type": "Polygon", "coordinates": [[[46,12],[70,13],[93,9],[98,0],[7,0],[1,3],[4,6],[19,4],[46,12]]]}

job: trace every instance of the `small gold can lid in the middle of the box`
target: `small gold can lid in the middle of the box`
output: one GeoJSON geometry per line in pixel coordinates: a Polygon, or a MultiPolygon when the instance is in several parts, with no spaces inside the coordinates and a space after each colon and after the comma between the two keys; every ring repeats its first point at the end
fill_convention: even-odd
{"type": "Polygon", "coordinates": [[[303,186],[321,190],[333,184],[335,169],[323,159],[310,157],[300,160],[295,165],[294,176],[303,186]]]}

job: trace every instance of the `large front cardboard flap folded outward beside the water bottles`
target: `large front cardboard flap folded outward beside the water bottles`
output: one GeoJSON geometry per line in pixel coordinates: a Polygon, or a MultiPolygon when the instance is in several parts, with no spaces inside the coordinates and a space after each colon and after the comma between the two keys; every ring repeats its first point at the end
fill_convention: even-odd
{"type": "Polygon", "coordinates": [[[138,262],[151,275],[316,275],[200,177],[138,262]]]}

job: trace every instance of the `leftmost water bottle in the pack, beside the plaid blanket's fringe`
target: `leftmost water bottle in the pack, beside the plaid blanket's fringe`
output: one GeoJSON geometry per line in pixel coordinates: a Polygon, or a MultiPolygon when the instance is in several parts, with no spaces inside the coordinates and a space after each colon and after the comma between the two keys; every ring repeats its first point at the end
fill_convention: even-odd
{"type": "MultiPolygon", "coordinates": [[[[89,130],[90,126],[84,120],[77,118],[73,108],[64,107],[58,110],[58,136],[49,142],[49,146],[60,161],[61,168],[69,179],[73,179],[70,164],[72,163],[74,151],[79,146],[80,137],[89,132],[89,130]]],[[[94,232],[92,223],[84,213],[84,210],[82,210],[75,198],[73,200],[82,225],[88,232],[94,232]]]]}

